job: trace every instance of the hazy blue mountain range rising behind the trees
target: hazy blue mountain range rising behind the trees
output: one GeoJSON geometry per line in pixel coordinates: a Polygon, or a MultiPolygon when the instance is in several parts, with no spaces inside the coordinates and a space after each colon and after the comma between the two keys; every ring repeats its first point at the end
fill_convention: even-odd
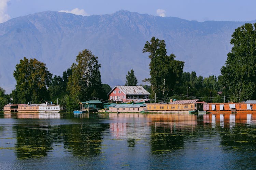
{"type": "Polygon", "coordinates": [[[153,36],[165,40],[168,55],[185,62],[184,71],[218,76],[231,49],[231,35],[244,23],[124,10],[91,16],[45,11],[13,18],[0,24],[0,87],[6,93],[15,88],[13,71],[23,57],[37,58],[51,73],[62,75],[84,49],[99,57],[102,83],[124,85],[127,71],[133,69],[140,84],[150,76],[150,59],[142,49],[153,36]]]}

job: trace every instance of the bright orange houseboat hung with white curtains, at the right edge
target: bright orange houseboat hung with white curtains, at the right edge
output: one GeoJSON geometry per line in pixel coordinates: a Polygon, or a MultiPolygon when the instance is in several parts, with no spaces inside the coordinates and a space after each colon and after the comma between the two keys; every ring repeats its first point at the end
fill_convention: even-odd
{"type": "Polygon", "coordinates": [[[205,103],[203,110],[219,114],[256,113],[256,100],[247,100],[245,103],[205,103]]]}

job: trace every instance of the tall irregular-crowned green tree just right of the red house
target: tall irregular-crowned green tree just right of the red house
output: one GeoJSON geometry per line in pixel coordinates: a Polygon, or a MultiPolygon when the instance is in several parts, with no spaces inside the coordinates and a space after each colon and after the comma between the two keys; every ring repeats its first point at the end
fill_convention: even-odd
{"type": "Polygon", "coordinates": [[[143,48],[143,53],[145,52],[150,53],[148,58],[151,59],[149,64],[151,78],[145,81],[150,82],[152,91],[157,97],[171,96],[175,86],[181,83],[184,62],[174,60],[174,54],[167,55],[165,41],[155,37],[152,37],[150,42],[146,42],[143,48]]]}

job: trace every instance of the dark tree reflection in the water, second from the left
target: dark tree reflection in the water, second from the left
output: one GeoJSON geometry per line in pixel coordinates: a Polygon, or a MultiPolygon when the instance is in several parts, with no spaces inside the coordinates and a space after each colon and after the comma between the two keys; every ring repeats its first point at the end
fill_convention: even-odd
{"type": "Polygon", "coordinates": [[[65,148],[76,155],[93,156],[101,151],[102,132],[109,124],[61,125],[65,148]]]}

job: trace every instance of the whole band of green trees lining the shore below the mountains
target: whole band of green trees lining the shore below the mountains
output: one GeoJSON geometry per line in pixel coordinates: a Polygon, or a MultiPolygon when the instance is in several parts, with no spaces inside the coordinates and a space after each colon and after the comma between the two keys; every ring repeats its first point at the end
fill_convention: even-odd
{"type": "MultiPolygon", "coordinates": [[[[142,86],[150,92],[151,102],[200,99],[225,103],[256,99],[255,28],[256,23],[246,23],[234,30],[230,40],[233,47],[218,77],[203,78],[194,71],[184,72],[185,62],[175,60],[172,53],[167,54],[165,40],[152,37],[146,41],[142,52],[151,60],[150,78],[145,78],[142,86]]],[[[0,111],[8,103],[57,103],[58,100],[71,113],[79,109],[80,101],[97,98],[103,103],[111,102],[107,96],[111,87],[101,82],[100,68],[98,57],[87,49],[78,53],[62,76],[50,73],[37,59],[24,57],[13,72],[16,88],[5,94],[0,87],[0,111]]],[[[131,69],[124,75],[125,85],[137,85],[135,74],[131,69]]]]}

